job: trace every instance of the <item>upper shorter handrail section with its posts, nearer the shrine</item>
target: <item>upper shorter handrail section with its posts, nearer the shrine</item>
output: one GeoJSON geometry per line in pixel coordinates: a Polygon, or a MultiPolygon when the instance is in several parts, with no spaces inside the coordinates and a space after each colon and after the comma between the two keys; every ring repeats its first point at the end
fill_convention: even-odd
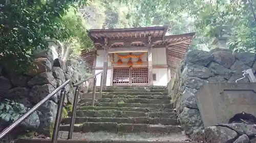
{"type": "Polygon", "coordinates": [[[91,75],[88,78],[78,82],[77,84],[74,85],[74,87],[76,87],[75,90],[75,97],[74,97],[74,101],[73,101],[73,107],[72,107],[72,116],[71,116],[71,120],[70,120],[70,127],[69,127],[69,134],[68,134],[68,139],[72,139],[73,137],[73,132],[74,132],[74,125],[75,125],[75,118],[76,118],[76,108],[77,108],[77,104],[78,104],[78,96],[79,96],[79,85],[82,84],[83,82],[86,82],[87,80],[91,79],[94,77],[94,82],[93,82],[93,97],[92,97],[92,106],[94,106],[95,104],[95,95],[96,95],[96,81],[97,75],[100,75],[100,95],[102,97],[102,85],[103,85],[103,71],[96,73],[95,75],[91,75]]]}

